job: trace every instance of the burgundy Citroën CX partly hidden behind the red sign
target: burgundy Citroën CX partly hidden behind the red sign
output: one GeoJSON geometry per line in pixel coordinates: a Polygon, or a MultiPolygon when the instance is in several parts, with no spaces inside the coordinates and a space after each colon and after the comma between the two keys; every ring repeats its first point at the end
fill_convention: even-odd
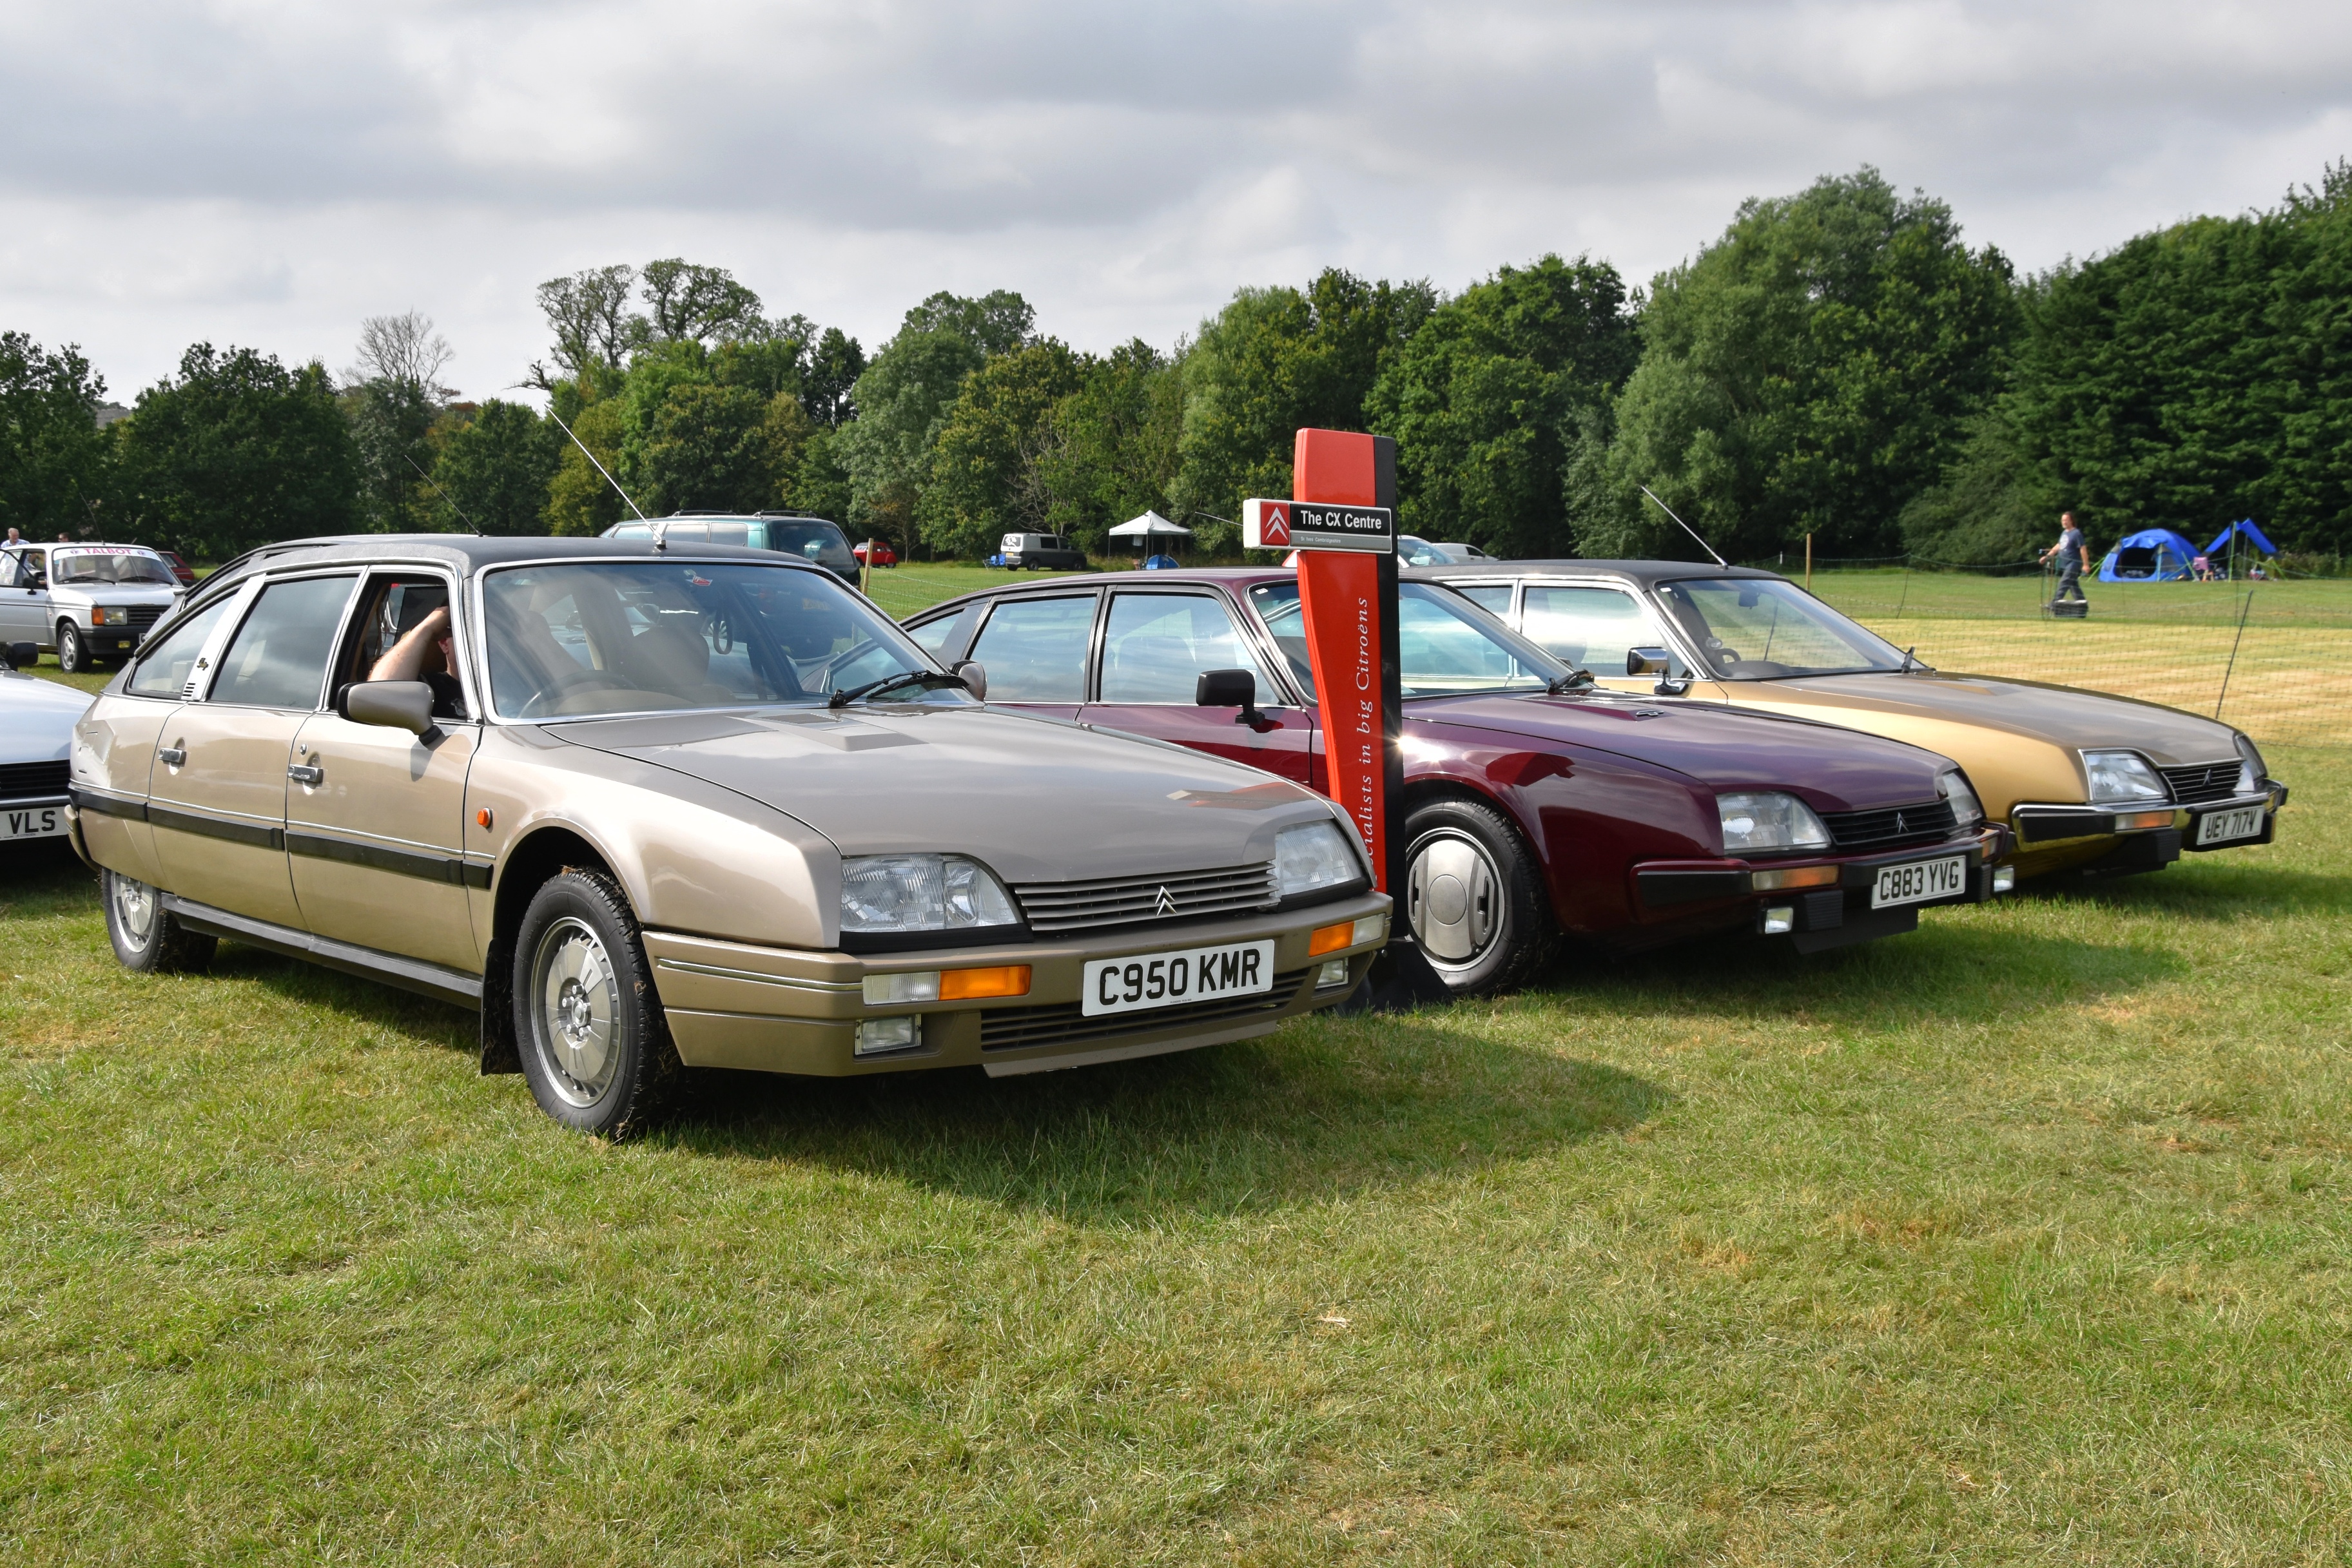
{"type": "MultiPolygon", "coordinates": [[[[1599,691],[1456,592],[1399,595],[1402,896],[1461,992],[1524,980],[1562,940],[1750,931],[1818,952],[2006,891],[1990,863],[2009,830],[1936,752],[1599,691]]],[[[990,703],[1329,788],[1294,571],[1009,585],[908,630],[943,665],[978,663],[990,703]]]]}

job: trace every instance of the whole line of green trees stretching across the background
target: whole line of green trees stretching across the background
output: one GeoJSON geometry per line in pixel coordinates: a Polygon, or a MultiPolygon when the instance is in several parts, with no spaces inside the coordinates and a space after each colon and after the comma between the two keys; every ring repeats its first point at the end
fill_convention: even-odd
{"type": "Polygon", "coordinates": [[[1543,256],[1458,294],[1329,268],[1249,287],[1200,331],[1084,353],[1014,292],[934,294],[870,357],[764,315],[724,268],[590,268],[539,289],[520,400],[459,402],[419,315],[358,362],[188,348],[99,428],[75,348],[0,334],[0,512],[219,559],[273,538],[597,534],[788,508],[922,557],[1000,534],[1091,550],[1145,508],[1237,545],[1289,494],[1298,425],[1397,437],[1402,524],[1496,555],[2030,557],[2256,517],[2286,550],[2352,524],[2352,167],[2267,212],[2192,219],[2020,277],[1952,209],[1875,169],[1745,202],[1628,289],[1543,256]],[[586,449],[586,451],[583,451],[586,449]]]}

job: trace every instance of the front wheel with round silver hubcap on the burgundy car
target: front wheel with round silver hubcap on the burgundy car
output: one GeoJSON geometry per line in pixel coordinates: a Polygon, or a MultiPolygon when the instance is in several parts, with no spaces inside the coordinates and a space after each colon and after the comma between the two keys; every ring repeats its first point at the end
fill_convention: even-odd
{"type": "Polygon", "coordinates": [[[1404,910],[1456,994],[1510,990],[1543,966],[1559,926],[1519,830],[1494,806],[1444,797],[1404,818],[1404,910]]]}

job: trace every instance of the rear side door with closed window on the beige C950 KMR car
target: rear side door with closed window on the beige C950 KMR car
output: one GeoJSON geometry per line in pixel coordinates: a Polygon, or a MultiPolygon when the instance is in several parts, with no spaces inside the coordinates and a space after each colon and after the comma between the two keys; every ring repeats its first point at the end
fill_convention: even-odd
{"type": "Polygon", "coordinates": [[[355,583],[353,571],[261,583],[198,677],[198,701],[165,722],[148,823],[167,891],[301,926],[285,851],[287,766],[325,698],[327,654],[355,583]]]}

